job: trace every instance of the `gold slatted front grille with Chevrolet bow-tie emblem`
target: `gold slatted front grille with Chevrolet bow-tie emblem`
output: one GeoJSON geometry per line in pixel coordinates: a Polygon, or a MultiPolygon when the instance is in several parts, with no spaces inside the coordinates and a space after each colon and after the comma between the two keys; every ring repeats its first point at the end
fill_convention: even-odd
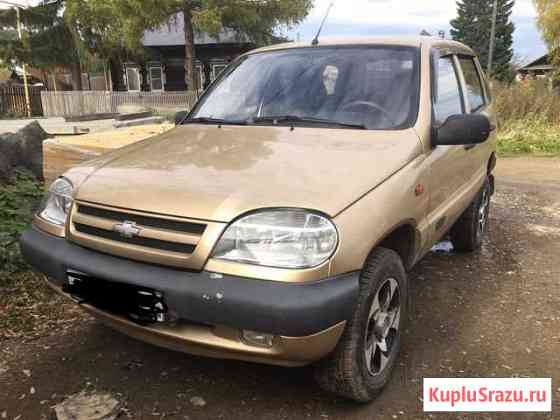
{"type": "Polygon", "coordinates": [[[68,238],[86,248],[137,261],[201,269],[222,224],[76,202],[68,238]],[[133,227],[122,234],[123,225],[133,227]],[[128,233],[128,232],[126,232],[128,233]],[[202,238],[210,242],[200,246],[202,238]]]}

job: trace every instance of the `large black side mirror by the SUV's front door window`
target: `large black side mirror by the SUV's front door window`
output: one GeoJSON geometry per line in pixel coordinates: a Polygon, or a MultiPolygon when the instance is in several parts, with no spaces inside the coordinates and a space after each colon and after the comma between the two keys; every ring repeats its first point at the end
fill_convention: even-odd
{"type": "Polygon", "coordinates": [[[442,125],[434,128],[432,145],[468,146],[484,143],[491,131],[490,120],[486,115],[452,115],[442,125]]]}

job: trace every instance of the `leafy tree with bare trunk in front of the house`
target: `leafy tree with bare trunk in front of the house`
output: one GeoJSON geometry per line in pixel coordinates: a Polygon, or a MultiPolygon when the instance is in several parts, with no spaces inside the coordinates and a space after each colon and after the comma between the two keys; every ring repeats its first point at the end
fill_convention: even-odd
{"type": "Polygon", "coordinates": [[[144,31],[176,19],[185,34],[185,82],[194,86],[194,34],[218,35],[223,28],[264,44],[280,25],[292,26],[313,0],[66,0],[67,14],[82,36],[97,37],[105,53],[125,48],[140,53],[144,31]]]}

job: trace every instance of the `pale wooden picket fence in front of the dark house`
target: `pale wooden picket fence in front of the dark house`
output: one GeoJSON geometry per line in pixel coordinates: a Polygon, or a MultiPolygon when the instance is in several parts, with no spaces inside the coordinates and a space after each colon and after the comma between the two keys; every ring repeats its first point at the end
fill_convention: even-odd
{"type": "MultiPolygon", "coordinates": [[[[45,117],[123,112],[126,106],[166,112],[190,109],[197,92],[41,92],[45,117]]],[[[126,111],[124,111],[126,112],[126,111]]]]}

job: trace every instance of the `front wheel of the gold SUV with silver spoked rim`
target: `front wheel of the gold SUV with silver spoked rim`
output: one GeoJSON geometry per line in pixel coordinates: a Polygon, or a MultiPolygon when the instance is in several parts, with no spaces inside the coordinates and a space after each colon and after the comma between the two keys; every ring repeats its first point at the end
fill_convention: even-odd
{"type": "Polygon", "coordinates": [[[316,367],[315,378],[321,388],[358,402],[369,402],[383,390],[400,350],[401,332],[407,319],[407,287],[406,272],[398,254],[385,248],[375,249],[360,276],[353,317],[346,324],[334,352],[316,367]],[[387,292],[395,285],[384,312],[387,292]],[[377,310],[376,303],[379,303],[377,310]],[[385,314],[389,316],[397,307],[398,315],[394,313],[392,318],[385,318],[385,314]],[[383,352],[379,344],[384,335],[387,352],[383,352]],[[366,352],[366,345],[372,347],[371,352],[366,352]]]}

